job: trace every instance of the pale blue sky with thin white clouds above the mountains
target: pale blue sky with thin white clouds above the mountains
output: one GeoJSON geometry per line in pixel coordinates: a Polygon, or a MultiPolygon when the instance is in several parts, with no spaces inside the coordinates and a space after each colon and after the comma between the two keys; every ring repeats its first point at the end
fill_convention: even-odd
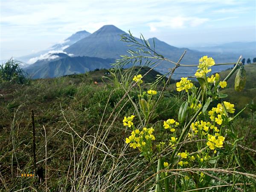
{"type": "Polygon", "coordinates": [[[255,0],[0,0],[2,59],[113,24],[177,47],[256,41],[255,0]]]}

